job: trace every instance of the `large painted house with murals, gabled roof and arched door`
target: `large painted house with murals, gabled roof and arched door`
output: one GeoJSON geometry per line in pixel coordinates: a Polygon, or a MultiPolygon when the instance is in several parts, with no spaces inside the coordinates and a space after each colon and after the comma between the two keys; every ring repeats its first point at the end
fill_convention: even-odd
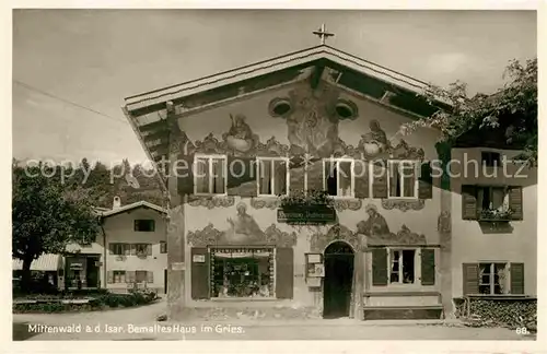
{"type": "Polygon", "coordinates": [[[322,45],[126,98],[171,197],[170,316],[452,311],[452,231],[441,225],[453,202],[431,165],[439,132],[401,129],[438,109],[424,86],[322,45]],[[310,198],[324,193],[326,203],[310,198]]]}

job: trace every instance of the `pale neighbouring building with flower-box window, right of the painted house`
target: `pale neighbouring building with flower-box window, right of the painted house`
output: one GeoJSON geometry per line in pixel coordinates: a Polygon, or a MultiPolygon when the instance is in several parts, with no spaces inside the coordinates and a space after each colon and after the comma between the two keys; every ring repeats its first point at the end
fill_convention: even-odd
{"type": "Polygon", "coordinates": [[[452,150],[462,162],[451,168],[455,298],[537,295],[537,168],[496,135],[452,150]]]}

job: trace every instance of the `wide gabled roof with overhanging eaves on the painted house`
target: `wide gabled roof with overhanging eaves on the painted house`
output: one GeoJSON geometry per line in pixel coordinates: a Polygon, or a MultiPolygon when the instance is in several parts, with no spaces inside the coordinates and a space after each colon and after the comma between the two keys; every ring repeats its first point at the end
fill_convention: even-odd
{"type": "MultiPolygon", "coordinates": [[[[123,107],[151,161],[168,154],[167,103],[176,115],[229,103],[242,95],[300,81],[321,80],[411,117],[430,116],[443,106],[421,95],[428,83],[327,45],[294,51],[177,85],[125,98],[123,107]]],[[[445,106],[445,105],[444,105],[445,106]]]]}

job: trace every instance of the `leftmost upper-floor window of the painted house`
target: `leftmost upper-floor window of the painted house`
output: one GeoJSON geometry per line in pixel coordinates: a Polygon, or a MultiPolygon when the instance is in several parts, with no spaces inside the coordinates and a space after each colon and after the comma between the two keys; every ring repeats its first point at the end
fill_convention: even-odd
{"type": "Polygon", "coordinates": [[[224,194],[226,192],[226,157],[196,156],[194,188],[196,194],[224,194]]]}

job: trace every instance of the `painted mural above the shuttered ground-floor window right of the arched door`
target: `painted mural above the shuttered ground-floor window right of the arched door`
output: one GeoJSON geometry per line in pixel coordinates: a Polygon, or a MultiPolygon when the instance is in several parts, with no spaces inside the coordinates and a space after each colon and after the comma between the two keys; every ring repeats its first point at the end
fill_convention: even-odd
{"type": "Polygon", "coordinates": [[[382,214],[373,204],[365,206],[369,219],[358,223],[358,233],[366,236],[366,245],[426,245],[427,239],[423,234],[412,233],[406,225],[403,225],[398,233],[392,233],[389,226],[382,214]]]}

